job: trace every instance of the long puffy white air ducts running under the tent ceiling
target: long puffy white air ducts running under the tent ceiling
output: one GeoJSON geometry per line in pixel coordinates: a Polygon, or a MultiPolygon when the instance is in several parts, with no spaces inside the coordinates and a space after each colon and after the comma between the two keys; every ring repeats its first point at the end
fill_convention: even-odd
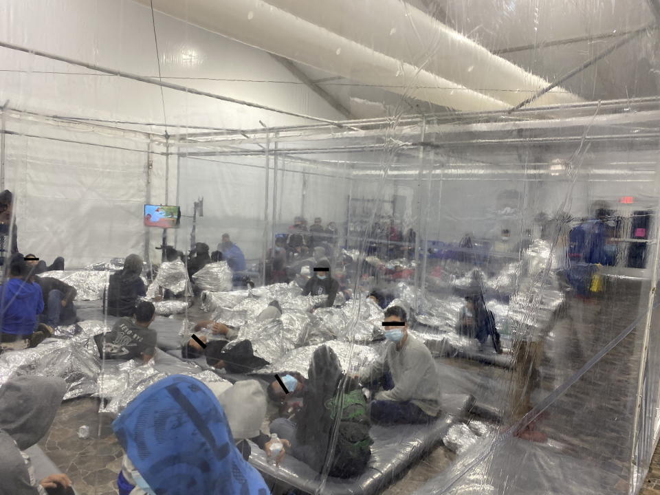
{"type": "MultiPolygon", "coordinates": [[[[548,84],[398,0],[154,0],[153,5],[289,60],[456,110],[508,109],[548,84]]],[[[533,105],[578,100],[558,87],[533,105]]]]}

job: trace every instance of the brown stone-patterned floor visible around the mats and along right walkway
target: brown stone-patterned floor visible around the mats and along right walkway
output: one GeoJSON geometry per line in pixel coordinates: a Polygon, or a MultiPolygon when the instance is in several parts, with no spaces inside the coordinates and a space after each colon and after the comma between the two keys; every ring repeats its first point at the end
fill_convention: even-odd
{"type": "MultiPolygon", "coordinates": [[[[547,339],[542,367],[545,393],[575,373],[593,353],[630,325],[639,314],[642,292],[643,287],[619,282],[608,286],[605,298],[571,301],[554,322],[547,339]]],[[[202,316],[196,313],[191,318],[202,316]]],[[[628,493],[631,418],[635,408],[632,391],[637,387],[640,338],[636,330],[632,331],[553,402],[539,423],[566,454],[588,458],[613,474],[618,481],[606,489],[612,494],[628,493]]],[[[474,366],[475,373],[484,372],[476,364],[463,362],[461,366],[474,366]]],[[[111,418],[99,416],[97,411],[97,399],[67,401],[40,443],[54,463],[69,474],[79,495],[117,493],[115,480],[122,450],[109,428],[111,418]],[[76,432],[83,425],[90,427],[89,439],[77,437],[76,432]]],[[[383,493],[410,494],[446,470],[454,459],[455,454],[440,446],[383,493]]],[[[584,494],[597,493],[593,487],[584,488],[584,494]]],[[[660,495],[660,450],[653,457],[641,493],[660,495]]]]}

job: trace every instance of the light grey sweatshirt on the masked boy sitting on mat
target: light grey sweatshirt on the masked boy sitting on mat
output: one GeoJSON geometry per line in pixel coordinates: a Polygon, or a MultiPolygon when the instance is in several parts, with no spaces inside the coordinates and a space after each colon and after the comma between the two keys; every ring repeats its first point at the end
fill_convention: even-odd
{"type": "Polygon", "coordinates": [[[440,377],[430,351],[410,333],[404,347],[397,350],[396,342],[390,342],[384,358],[360,371],[360,382],[373,382],[389,371],[394,388],[375,395],[377,400],[396,402],[410,401],[430,416],[440,410],[440,377]]]}

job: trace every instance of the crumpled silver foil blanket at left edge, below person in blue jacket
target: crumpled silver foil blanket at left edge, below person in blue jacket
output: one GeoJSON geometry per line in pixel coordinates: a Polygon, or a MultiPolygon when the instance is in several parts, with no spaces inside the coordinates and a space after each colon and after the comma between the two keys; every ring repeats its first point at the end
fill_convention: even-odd
{"type": "Polygon", "coordinates": [[[47,339],[33,349],[0,355],[0,384],[12,376],[54,376],[67,383],[65,400],[95,393],[100,361],[91,336],[102,333],[107,327],[96,321],[79,325],[81,331],[74,338],[47,339]]]}

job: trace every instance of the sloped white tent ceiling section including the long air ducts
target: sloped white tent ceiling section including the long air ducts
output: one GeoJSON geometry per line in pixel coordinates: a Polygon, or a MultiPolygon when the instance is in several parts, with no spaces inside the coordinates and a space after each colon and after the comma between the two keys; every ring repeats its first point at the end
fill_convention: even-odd
{"type": "MultiPolygon", "coordinates": [[[[506,109],[653,19],[647,0],[533,5],[153,0],[153,5],[294,61],[305,78],[355,118],[440,107],[506,109]],[[569,39],[581,41],[562,43],[569,39]]],[[[532,105],[655,95],[654,47],[654,38],[642,34],[532,105]]]]}

